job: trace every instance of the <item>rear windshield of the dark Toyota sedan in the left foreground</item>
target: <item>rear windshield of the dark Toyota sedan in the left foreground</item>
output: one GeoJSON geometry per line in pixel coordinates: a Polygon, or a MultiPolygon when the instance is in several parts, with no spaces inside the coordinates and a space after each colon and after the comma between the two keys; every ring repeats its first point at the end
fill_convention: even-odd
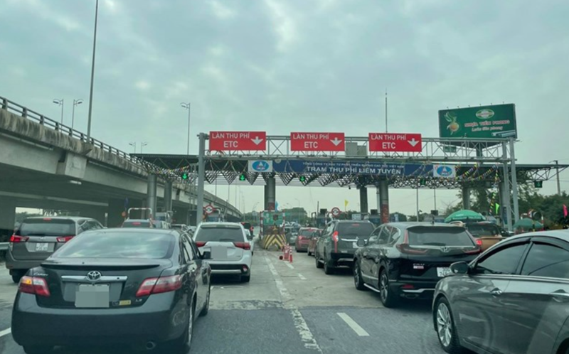
{"type": "Polygon", "coordinates": [[[54,253],[60,258],[142,258],[171,257],[173,235],[136,232],[83,232],[54,253]]]}

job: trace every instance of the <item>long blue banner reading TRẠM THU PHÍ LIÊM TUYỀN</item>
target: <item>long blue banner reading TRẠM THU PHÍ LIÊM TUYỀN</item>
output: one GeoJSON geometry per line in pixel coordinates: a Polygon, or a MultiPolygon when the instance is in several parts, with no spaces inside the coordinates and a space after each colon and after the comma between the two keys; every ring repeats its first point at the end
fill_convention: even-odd
{"type": "Polygon", "coordinates": [[[281,160],[273,161],[272,168],[277,173],[336,173],[389,177],[432,175],[432,165],[420,163],[281,160]]]}

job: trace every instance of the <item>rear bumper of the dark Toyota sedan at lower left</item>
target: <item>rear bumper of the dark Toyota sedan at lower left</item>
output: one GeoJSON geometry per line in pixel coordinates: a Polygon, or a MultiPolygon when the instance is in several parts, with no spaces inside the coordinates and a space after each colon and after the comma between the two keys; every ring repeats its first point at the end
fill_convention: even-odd
{"type": "Polygon", "coordinates": [[[184,333],[188,306],[174,292],[154,294],[128,309],[47,309],[36,296],[18,294],[12,336],[19,345],[89,345],[164,342],[184,333]]]}

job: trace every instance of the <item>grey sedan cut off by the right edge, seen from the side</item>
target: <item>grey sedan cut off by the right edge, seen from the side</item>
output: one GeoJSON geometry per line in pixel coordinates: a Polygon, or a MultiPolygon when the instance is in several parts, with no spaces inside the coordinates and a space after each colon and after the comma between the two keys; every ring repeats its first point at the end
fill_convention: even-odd
{"type": "Polygon", "coordinates": [[[432,307],[447,353],[569,353],[569,232],[510,237],[450,268],[432,307]]]}

